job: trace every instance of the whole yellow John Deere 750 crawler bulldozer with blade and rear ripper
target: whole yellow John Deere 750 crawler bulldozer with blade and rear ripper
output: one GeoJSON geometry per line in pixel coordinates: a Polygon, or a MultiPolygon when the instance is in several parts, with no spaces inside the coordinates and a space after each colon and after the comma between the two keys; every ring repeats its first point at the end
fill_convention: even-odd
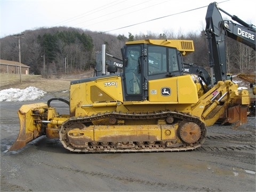
{"type": "MultiPolygon", "coordinates": [[[[206,22],[215,9],[217,3],[209,5],[206,22]]],[[[211,23],[206,33],[210,43],[218,41],[213,40],[211,23]]],[[[182,60],[193,51],[193,41],[188,40],[126,42],[122,71],[117,72],[114,65],[106,71],[102,49],[101,75],[71,81],[69,101],[53,98],[21,106],[20,132],[9,150],[41,135],[58,138],[66,149],[82,153],[193,150],[204,143],[206,126],[219,119],[246,123],[248,91],[226,80],[226,66],[218,65],[215,50],[210,51],[215,82],[200,72],[193,78],[192,67],[186,68],[182,60]],[[69,105],[69,114],[57,113],[53,100],[69,105]]]]}

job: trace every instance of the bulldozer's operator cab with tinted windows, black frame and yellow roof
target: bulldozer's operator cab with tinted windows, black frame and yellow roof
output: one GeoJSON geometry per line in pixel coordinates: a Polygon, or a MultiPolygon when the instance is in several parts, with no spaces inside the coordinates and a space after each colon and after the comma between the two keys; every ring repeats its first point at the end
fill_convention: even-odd
{"type": "Polygon", "coordinates": [[[148,81],[183,74],[181,53],[168,40],[127,42],[122,54],[125,101],[148,100],[148,81]]]}

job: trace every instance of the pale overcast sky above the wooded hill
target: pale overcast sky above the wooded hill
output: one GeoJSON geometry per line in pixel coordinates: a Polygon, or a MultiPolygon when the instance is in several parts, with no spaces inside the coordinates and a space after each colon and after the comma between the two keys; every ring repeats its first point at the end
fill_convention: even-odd
{"type": "MultiPolygon", "coordinates": [[[[213,0],[0,0],[0,37],[41,27],[74,27],[128,37],[199,33],[213,0]]],[[[254,0],[216,1],[221,9],[256,25],[254,0]]],[[[223,19],[231,20],[226,14],[223,19]]]]}

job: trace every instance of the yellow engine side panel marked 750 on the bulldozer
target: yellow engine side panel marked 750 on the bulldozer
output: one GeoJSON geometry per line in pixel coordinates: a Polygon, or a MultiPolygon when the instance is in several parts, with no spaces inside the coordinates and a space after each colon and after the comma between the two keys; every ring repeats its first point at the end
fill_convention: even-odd
{"type": "Polygon", "coordinates": [[[93,81],[70,85],[70,116],[86,116],[90,112],[108,111],[109,106],[116,106],[116,101],[123,101],[120,76],[98,77],[93,81]],[[100,107],[100,111],[97,107],[100,107]]]}

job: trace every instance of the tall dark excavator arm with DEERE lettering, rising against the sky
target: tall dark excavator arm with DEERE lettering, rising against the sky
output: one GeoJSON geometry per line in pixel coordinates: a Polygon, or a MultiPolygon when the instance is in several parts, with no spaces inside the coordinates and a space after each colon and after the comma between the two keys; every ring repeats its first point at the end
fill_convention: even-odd
{"type": "Polygon", "coordinates": [[[205,20],[211,74],[213,75],[212,70],[214,70],[216,83],[218,81],[225,81],[227,79],[226,38],[233,38],[255,50],[255,27],[242,21],[236,15],[231,15],[220,9],[216,2],[209,4],[205,20]],[[233,21],[223,20],[220,11],[230,16],[231,19],[240,25],[233,21]]]}

